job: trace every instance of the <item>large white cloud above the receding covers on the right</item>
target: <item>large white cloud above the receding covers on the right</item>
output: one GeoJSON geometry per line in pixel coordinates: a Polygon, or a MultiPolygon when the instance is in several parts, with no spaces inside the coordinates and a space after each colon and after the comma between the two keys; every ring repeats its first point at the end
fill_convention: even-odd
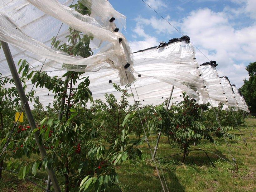
{"type": "MultiPolygon", "coordinates": [[[[239,87],[243,84],[242,79],[248,77],[245,65],[256,60],[256,25],[236,30],[227,18],[225,12],[199,9],[183,19],[181,30],[200,50],[208,50],[205,51],[208,58],[216,60],[219,69],[239,87]],[[213,53],[209,54],[210,50],[213,53]],[[245,63],[238,65],[236,61],[245,63]]],[[[205,62],[205,58],[198,54],[199,63],[205,62]]]]}

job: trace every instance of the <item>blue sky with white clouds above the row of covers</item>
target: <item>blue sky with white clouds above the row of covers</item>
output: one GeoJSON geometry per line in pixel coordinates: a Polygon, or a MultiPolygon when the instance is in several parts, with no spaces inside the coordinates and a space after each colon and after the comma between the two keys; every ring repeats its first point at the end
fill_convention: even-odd
{"type": "MultiPolygon", "coordinates": [[[[175,26],[209,60],[216,60],[219,76],[237,88],[248,79],[245,67],[256,61],[256,0],[144,0],[175,26]]],[[[142,0],[109,0],[126,19],[132,51],[159,45],[182,35],[142,0]]],[[[207,62],[196,50],[199,64],[207,62]]]]}

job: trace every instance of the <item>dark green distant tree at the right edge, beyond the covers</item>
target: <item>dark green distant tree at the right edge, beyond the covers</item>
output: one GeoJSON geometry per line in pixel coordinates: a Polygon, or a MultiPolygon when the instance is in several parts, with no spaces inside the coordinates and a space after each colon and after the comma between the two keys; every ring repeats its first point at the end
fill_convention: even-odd
{"type": "Polygon", "coordinates": [[[244,95],[251,113],[256,113],[256,62],[250,63],[245,69],[249,73],[249,80],[244,79],[244,85],[239,90],[244,95]]]}

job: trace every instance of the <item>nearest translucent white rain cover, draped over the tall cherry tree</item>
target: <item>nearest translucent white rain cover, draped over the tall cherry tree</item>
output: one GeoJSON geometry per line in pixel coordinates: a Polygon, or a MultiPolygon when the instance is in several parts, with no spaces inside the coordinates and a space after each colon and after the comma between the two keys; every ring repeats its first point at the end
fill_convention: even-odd
{"type": "MultiPolygon", "coordinates": [[[[46,58],[46,65],[62,70],[95,72],[101,69],[113,69],[118,71],[122,85],[132,82],[134,80],[133,60],[128,42],[122,33],[114,31],[116,25],[113,18],[120,19],[119,23],[122,25],[125,23],[125,16],[115,11],[106,0],[95,1],[96,5],[94,1],[90,2],[91,7],[88,9],[92,13],[96,12],[93,8],[99,9],[99,5],[106,6],[100,8],[103,10],[106,8],[108,14],[94,14],[98,21],[101,18],[99,24],[95,18],[82,15],[68,7],[71,3],[64,0],[60,2],[57,0],[2,0],[0,2],[0,39],[15,46],[11,51],[16,50],[13,55],[20,56],[17,59],[24,58],[21,55],[26,55],[29,58],[28,62],[33,63],[37,60],[43,63],[46,58]],[[99,2],[102,3],[99,4],[99,2]],[[107,20],[108,16],[110,18],[107,20]],[[54,36],[57,36],[56,39],[62,43],[71,44],[66,38],[69,26],[91,39],[90,54],[93,54],[92,56],[90,54],[85,55],[87,58],[73,56],[50,48],[51,39],[54,36]],[[130,64],[129,70],[124,69],[127,63],[130,64]]],[[[37,62],[35,65],[41,64],[37,62]]]]}

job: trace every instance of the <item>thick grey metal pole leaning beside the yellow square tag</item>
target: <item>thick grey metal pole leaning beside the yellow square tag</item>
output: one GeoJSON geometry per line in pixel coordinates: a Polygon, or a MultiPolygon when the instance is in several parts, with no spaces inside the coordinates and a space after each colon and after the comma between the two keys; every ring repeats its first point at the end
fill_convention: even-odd
{"type": "MultiPolygon", "coordinates": [[[[22,87],[22,84],[21,84],[20,77],[19,77],[19,74],[17,72],[16,66],[14,64],[11,51],[10,51],[9,46],[6,42],[4,42],[4,41],[0,41],[0,42],[2,44],[2,49],[3,49],[4,55],[6,57],[8,66],[10,68],[12,78],[13,78],[14,83],[16,85],[16,88],[17,88],[19,97],[21,99],[22,105],[25,106],[24,111],[27,115],[27,120],[29,122],[29,125],[30,125],[31,129],[34,130],[36,128],[36,123],[35,123],[35,120],[33,118],[32,113],[31,113],[31,109],[29,107],[29,104],[27,103],[27,98],[26,98],[24,89],[22,87]]],[[[45,151],[45,148],[44,148],[44,146],[42,144],[42,141],[39,137],[39,132],[35,132],[34,137],[35,137],[35,141],[36,141],[36,144],[38,146],[38,149],[40,151],[41,156],[45,157],[46,156],[46,151],[45,151]]],[[[53,172],[53,168],[49,169],[48,167],[46,167],[46,170],[47,170],[48,174],[50,175],[51,180],[53,181],[52,184],[53,184],[54,190],[56,192],[60,192],[60,186],[59,186],[58,181],[56,179],[56,176],[53,172]]]]}

